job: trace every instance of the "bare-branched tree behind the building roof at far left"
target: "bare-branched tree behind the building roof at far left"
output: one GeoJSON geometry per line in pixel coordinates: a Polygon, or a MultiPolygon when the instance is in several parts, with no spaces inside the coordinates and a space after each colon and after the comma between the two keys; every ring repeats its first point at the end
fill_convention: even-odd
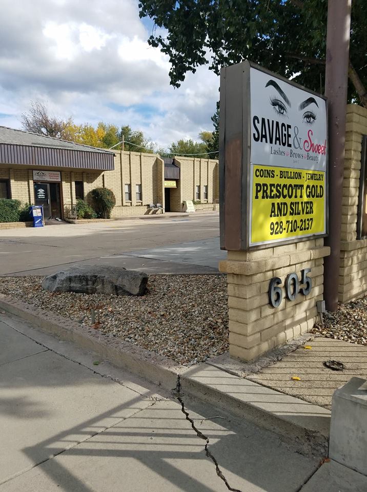
{"type": "Polygon", "coordinates": [[[46,103],[40,100],[31,101],[28,112],[21,115],[22,127],[27,132],[38,133],[56,138],[65,138],[69,135],[67,129],[73,125],[73,120],[67,120],[48,113],[46,103]]]}

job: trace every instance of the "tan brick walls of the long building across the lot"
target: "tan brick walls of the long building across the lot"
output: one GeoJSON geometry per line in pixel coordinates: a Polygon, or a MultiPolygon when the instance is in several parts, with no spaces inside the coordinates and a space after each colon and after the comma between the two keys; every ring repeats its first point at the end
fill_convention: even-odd
{"type": "MultiPolygon", "coordinates": [[[[161,203],[165,207],[164,162],[155,154],[138,152],[115,152],[113,171],[60,169],[60,195],[64,216],[76,203],[75,181],[83,181],[84,198],[92,204],[90,192],[94,188],[106,187],[113,191],[116,205],[112,217],[144,215],[148,204],[161,203]],[[125,185],[130,185],[130,200],[125,197],[125,185]],[[136,200],[136,185],[141,185],[141,201],[136,200]]],[[[182,201],[195,199],[195,186],[200,186],[201,202],[213,203],[218,199],[218,161],[179,157],[181,179],[177,188],[171,189],[171,210],[182,211],[182,201]],[[203,199],[204,186],[208,186],[208,200],[203,199]]],[[[32,169],[9,167],[0,164],[0,179],[10,179],[12,198],[34,203],[32,169]]],[[[38,168],[40,169],[40,168],[38,168]]],[[[54,168],[43,168],[55,170],[54,168]]]]}

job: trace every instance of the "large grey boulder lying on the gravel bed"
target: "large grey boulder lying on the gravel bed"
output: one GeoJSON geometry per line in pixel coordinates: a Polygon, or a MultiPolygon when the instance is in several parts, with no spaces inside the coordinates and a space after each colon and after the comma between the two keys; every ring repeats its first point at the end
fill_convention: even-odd
{"type": "Polygon", "coordinates": [[[144,272],[123,267],[82,265],[46,277],[42,287],[50,292],[142,296],[147,290],[147,283],[148,275],[144,272]]]}

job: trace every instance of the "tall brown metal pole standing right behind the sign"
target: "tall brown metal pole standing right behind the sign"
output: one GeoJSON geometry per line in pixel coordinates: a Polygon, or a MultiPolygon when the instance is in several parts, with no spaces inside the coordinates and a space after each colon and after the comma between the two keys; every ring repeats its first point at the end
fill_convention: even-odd
{"type": "Polygon", "coordinates": [[[329,0],[325,96],[329,108],[329,237],[324,259],[324,299],[328,311],[338,305],[341,206],[344,173],[345,111],[348,94],[352,0],[329,0]]]}

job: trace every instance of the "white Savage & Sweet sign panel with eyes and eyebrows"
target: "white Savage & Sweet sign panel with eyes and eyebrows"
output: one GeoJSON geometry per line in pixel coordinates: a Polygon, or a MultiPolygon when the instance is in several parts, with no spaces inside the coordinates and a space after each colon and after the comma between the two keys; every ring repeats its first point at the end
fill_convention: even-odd
{"type": "Polygon", "coordinates": [[[251,163],[326,171],[325,100],[250,68],[251,163]]]}

